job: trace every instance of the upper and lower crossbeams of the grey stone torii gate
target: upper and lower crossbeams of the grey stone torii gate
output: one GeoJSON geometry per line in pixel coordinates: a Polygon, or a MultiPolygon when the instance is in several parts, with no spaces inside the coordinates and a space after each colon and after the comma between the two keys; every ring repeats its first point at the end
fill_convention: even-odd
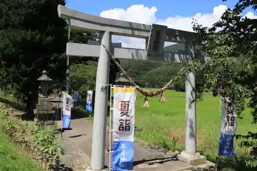
{"type": "MultiPolygon", "coordinates": [[[[68,20],[69,28],[71,29],[90,32],[109,31],[112,35],[138,37],[146,40],[146,45],[148,44],[146,49],[112,47],[111,52],[115,58],[163,62],[190,62],[193,60],[187,46],[185,46],[185,51],[179,50],[179,53],[163,52],[163,46],[164,42],[191,43],[197,37],[197,33],[171,29],[162,25],[145,25],[113,20],[76,11],[62,5],[58,6],[58,14],[59,17],[68,20]],[[158,31],[159,36],[157,37],[158,31]],[[158,39],[157,49],[154,49],[156,39],[158,39]]],[[[66,53],[68,56],[90,56],[98,58],[100,55],[100,46],[67,43],[66,53]]],[[[203,56],[198,56],[197,58],[206,60],[203,56]]]]}

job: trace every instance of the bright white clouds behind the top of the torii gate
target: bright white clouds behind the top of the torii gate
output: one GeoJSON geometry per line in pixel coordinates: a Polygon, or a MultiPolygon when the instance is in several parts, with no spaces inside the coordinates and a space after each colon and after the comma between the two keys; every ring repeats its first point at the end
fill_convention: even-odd
{"type": "MultiPolygon", "coordinates": [[[[155,16],[157,12],[156,7],[145,7],[144,5],[132,5],[126,10],[121,8],[115,8],[110,10],[105,10],[100,13],[100,16],[105,18],[112,18],[116,20],[123,20],[128,22],[136,22],[142,24],[152,25],[153,23],[166,25],[169,28],[193,31],[192,29],[192,18],[198,20],[198,23],[211,27],[213,23],[217,22],[221,18],[222,14],[225,12],[227,7],[225,5],[219,5],[213,8],[212,13],[196,13],[194,16],[170,16],[164,20],[158,20],[155,16]]],[[[252,12],[246,14],[247,17],[257,18],[252,12]]],[[[130,37],[113,36],[113,42],[121,42],[123,47],[130,48],[145,48],[144,40],[136,40],[130,37]]]]}

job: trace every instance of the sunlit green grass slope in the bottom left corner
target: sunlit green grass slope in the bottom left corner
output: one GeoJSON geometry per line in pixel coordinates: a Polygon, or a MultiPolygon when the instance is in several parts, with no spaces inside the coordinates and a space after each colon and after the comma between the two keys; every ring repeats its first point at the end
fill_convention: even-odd
{"type": "Polygon", "coordinates": [[[40,166],[10,142],[0,127],[0,170],[42,171],[40,166]]]}

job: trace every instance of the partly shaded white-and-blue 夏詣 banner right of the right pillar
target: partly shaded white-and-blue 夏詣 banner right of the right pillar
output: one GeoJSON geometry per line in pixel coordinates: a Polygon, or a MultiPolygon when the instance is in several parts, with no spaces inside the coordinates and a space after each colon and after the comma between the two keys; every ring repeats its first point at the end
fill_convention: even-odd
{"type": "Polygon", "coordinates": [[[236,131],[236,106],[229,98],[224,99],[221,119],[219,156],[234,156],[234,134],[236,131]]]}

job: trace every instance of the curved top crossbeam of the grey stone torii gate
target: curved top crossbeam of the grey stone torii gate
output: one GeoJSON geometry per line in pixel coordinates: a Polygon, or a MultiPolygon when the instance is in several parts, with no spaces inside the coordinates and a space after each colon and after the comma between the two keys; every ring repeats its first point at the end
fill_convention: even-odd
{"type": "MultiPolygon", "coordinates": [[[[88,31],[111,31],[113,35],[137,37],[147,39],[150,35],[152,26],[126,22],[120,20],[113,20],[109,18],[90,15],[79,12],[65,6],[58,6],[59,17],[65,18],[69,21],[69,26],[72,29],[88,30],[88,31]]],[[[182,31],[167,28],[164,41],[185,43],[191,41],[195,36],[194,32],[182,31]]]]}

